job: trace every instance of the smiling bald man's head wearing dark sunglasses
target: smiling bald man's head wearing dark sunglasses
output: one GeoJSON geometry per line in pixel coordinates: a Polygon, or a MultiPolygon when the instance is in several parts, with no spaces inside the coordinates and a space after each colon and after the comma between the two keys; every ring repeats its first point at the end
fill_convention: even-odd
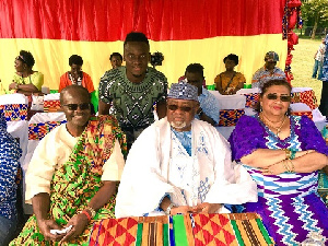
{"type": "Polygon", "coordinates": [[[86,126],[91,115],[91,98],[87,90],[72,84],[60,93],[60,104],[70,129],[81,129],[86,126]]]}

